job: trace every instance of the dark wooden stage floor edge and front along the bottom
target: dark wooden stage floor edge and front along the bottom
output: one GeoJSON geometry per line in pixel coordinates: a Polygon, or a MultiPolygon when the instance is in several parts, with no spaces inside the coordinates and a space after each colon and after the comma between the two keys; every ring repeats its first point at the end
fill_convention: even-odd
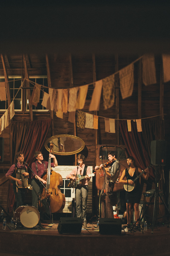
{"type": "MultiPolygon", "coordinates": [[[[44,224],[47,225],[47,224],[44,224]]],[[[54,224],[57,227],[57,224],[54,224]]],[[[170,230],[167,226],[156,226],[145,233],[122,232],[121,235],[100,234],[91,228],[80,234],[59,234],[51,230],[32,229],[2,230],[0,223],[0,255],[50,255],[50,256],[142,256],[170,255],[170,230]]]]}

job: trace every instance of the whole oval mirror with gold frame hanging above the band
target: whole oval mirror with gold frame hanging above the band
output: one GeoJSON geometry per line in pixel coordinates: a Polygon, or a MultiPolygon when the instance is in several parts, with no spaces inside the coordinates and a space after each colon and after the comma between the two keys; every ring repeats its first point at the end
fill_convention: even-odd
{"type": "Polygon", "coordinates": [[[73,155],[83,150],[85,143],[73,135],[56,135],[45,142],[46,150],[50,151],[50,143],[54,144],[53,152],[56,155],[73,155]]]}

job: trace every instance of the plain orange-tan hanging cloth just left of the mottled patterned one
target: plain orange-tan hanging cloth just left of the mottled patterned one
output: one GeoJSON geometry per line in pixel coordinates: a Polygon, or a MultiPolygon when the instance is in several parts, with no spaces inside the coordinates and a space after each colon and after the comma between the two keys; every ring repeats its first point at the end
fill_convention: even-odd
{"type": "Polygon", "coordinates": [[[102,92],[102,85],[103,81],[97,81],[95,83],[95,88],[92,94],[89,111],[99,111],[100,109],[100,98],[101,98],[101,92],[102,92]]]}

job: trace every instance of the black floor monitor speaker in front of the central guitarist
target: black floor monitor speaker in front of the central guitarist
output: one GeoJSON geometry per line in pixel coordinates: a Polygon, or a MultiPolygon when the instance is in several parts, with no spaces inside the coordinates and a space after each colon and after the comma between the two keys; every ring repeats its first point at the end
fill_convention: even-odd
{"type": "Polygon", "coordinates": [[[82,219],[81,218],[60,218],[58,224],[58,232],[63,233],[77,233],[82,231],[82,219]]]}

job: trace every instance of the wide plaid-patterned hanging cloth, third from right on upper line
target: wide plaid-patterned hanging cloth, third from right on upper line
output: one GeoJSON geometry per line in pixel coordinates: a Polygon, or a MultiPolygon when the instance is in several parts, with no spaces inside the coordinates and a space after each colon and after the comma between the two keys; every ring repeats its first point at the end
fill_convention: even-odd
{"type": "Polygon", "coordinates": [[[132,96],[134,85],[134,65],[130,64],[119,71],[122,99],[132,96]]]}

